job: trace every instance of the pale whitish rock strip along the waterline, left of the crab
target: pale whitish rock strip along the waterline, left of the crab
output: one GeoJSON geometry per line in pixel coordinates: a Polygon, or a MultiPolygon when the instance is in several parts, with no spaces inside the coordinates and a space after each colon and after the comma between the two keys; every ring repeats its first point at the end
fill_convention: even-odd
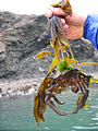
{"type": "Polygon", "coordinates": [[[0,82],[0,99],[32,95],[40,86],[42,79],[5,80],[0,82]]]}

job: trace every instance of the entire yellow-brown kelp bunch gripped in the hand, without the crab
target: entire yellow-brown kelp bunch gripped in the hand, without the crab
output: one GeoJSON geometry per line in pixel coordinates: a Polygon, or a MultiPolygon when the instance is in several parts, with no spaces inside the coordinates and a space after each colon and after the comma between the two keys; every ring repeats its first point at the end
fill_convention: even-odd
{"type": "MultiPolygon", "coordinates": [[[[66,0],[66,3],[68,2],[69,2],[69,0],[66,0]]],[[[70,7],[69,3],[66,5],[64,4],[64,7],[61,3],[60,4],[58,3],[57,5],[52,5],[52,7],[56,7],[56,8],[59,7],[59,8],[62,8],[63,11],[68,10],[68,12],[69,11],[72,12],[72,8],[70,7]]],[[[50,34],[51,34],[50,45],[53,48],[54,53],[52,55],[51,51],[45,51],[45,52],[37,55],[37,59],[42,58],[49,53],[51,53],[54,58],[50,64],[47,76],[44,79],[44,81],[40,84],[40,87],[37,92],[37,96],[35,96],[35,98],[34,98],[34,116],[35,116],[35,119],[36,119],[38,126],[39,126],[39,121],[45,122],[44,112],[47,109],[47,104],[45,103],[45,97],[46,97],[46,90],[49,87],[48,82],[50,80],[48,79],[48,76],[50,75],[51,71],[56,68],[57,71],[59,70],[62,73],[63,70],[66,70],[66,69],[71,70],[73,68],[72,63],[74,63],[74,67],[77,69],[72,50],[65,38],[65,34],[64,34],[60,17],[53,15],[51,19],[49,19],[48,27],[49,27],[48,29],[50,31],[50,34]],[[62,57],[60,56],[61,53],[62,53],[62,57]],[[68,56],[64,57],[63,53],[66,53],[68,56]],[[69,56],[71,56],[71,57],[69,57],[69,56]],[[64,63],[65,60],[66,60],[66,63],[64,63]]],[[[90,83],[91,82],[98,83],[98,81],[95,80],[94,78],[90,78],[90,83]]],[[[63,87],[61,87],[61,88],[63,91],[63,87]]],[[[53,90],[57,94],[59,94],[59,88],[53,88],[53,90]]],[[[77,103],[76,103],[77,106],[81,103],[82,96],[83,96],[83,94],[77,99],[77,103]]],[[[84,108],[87,108],[87,105],[84,105],[84,108]]]]}

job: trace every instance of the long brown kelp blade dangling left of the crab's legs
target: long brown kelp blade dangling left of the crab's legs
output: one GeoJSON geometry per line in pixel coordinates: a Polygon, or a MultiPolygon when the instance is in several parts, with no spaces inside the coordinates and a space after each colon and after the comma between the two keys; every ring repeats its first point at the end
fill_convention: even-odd
{"type": "Polygon", "coordinates": [[[37,95],[34,97],[34,117],[39,127],[39,121],[45,122],[44,112],[47,109],[47,104],[45,103],[45,91],[48,88],[48,76],[50,73],[46,75],[44,81],[38,88],[37,95]]]}

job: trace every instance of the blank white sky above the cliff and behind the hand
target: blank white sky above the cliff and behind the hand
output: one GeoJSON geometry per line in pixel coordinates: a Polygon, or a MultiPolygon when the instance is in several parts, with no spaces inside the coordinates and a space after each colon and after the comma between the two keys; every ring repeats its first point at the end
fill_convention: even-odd
{"type": "MultiPolygon", "coordinates": [[[[60,0],[1,0],[0,11],[11,11],[19,14],[44,14],[47,7],[60,0]]],[[[70,0],[73,9],[81,13],[98,12],[97,0],[70,0]]]]}

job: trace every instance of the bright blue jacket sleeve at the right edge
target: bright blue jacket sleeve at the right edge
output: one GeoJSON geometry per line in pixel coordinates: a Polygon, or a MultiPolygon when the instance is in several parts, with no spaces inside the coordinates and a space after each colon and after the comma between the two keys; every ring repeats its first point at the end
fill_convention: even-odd
{"type": "Polygon", "coordinates": [[[90,40],[98,49],[98,14],[88,15],[84,24],[83,37],[90,40]]]}

